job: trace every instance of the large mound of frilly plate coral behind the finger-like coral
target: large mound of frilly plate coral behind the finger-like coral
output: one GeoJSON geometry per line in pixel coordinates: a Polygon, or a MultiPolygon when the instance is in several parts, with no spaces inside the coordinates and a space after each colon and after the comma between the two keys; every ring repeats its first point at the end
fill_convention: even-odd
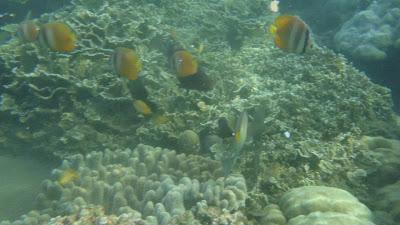
{"type": "MultiPolygon", "coordinates": [[[[254,28],[253,36],[243,39],[241,51],[233,54],[222,32],[228,19],[221,18],[217,23],[197,19],[211,18],[207,13],[213,14],[216,9],[225,12],[220,17],[231,18],[228,15],[241,3],[204,3],[198,6],[204,9],[201,12],[185,1],[162,4],[138,3],[132,8],[125,1],[104,1],[94,13],[75,2],[71,11],[39,18],[43,22],[67,18],[79,40],[78,50],[71,55],[46,52],[16,39],[2,45],[0,58],[10,70],[1,78],[6,85],[0,113],[7,119],[1,126],[10,130],[2,134],[7,140],[3,144],[8,145],[4,147],[13,150],[22,145],[61,156],[113,147],[115,143],[175,149],[184,130],[200,133],[208,129],[212,133],[220,116],[236,116],[243,109],[254,111],[259,105],[268,108],[264,116],[270,123],[259,140],[288,129],[299,139],[332,140],[342,132],[363,127],[367,121],[391,123],[389,92],[329,50],[320,49],[304,57],[286,55],[268,47],[272,43],[265,46],[265,34],[254,28]],[[190,16],[176,24],[171,16],[175,13],[190,16]],[[194,21],[201,21],[204,26],[199,27],[205,30],[194,31],[194,21]],[[174,40],[188,48],[196,48],[197,43],[205,45],[198,55],[199,67],[215,78],[213,90],[203,93],[179,87],[176,75],[166,65],[165,46],[174,40]],[[256,44],[259,46],[254,47],[256,44]],[[118,46],[135,47],[143,61],[143,83],[150,100],[164,112],[164,123],[142,119],[129,95],[121,91],[121,80],[107,63],[118,46]],[[208,107],[199,109],[199,102],[208,107]]],[[[248,27],[246,22],[255,19],[250,15],[237,17],[241,21],[238,29],[248,27]]]]}

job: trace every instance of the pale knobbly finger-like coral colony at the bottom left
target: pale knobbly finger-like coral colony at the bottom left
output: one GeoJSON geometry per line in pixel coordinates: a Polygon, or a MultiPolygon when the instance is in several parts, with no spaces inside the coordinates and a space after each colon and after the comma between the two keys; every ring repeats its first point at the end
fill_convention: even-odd
{"type": "Polygon", "coordinates": [[[145,145],[74,155],[53,175],[55,181],[44,181],[38,196],[39,207],[51,215],[74,214],[96,204],[107,214],[134,212],[168,224],[199,205],[236,211],[245,206],[247,196],[244,178],[221,177],[218,162],[145,145]],[[58,177],[68,169],[76,170],[80,179],[61,186],[58,177]]]}

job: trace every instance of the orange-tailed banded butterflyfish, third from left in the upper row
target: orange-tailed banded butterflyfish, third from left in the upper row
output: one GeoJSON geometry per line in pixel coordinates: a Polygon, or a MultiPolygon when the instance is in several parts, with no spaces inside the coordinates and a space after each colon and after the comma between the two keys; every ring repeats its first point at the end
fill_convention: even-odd
{"type": "Polygon", "coordinates": [[[136,53],[129,48],[117,48],[112,55],[112,64],[115,72],[128,78],[129,80],[138,79],[142,69],[142,63],[136,53]]]}

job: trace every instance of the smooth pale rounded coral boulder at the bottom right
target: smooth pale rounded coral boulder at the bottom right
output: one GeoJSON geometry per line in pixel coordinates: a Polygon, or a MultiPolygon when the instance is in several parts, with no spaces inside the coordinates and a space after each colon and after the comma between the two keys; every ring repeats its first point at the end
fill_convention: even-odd
{"type": "Polygon", "coordinates": [[[282,196],[280,207],[290,225],[373,225],[371,211],[364,204],[349,192],[333,187],[291,189],[282,196]]]}

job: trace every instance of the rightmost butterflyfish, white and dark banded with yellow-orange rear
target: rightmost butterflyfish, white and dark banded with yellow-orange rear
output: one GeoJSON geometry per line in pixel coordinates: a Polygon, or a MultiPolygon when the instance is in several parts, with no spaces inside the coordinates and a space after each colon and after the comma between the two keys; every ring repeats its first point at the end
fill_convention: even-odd
{"type": "Polygon", "coordinates": [[[278,16],[269,27],[275,45],[287,52],[305,53],[312,47],[308,25],[297,16],[278,16]]]}

